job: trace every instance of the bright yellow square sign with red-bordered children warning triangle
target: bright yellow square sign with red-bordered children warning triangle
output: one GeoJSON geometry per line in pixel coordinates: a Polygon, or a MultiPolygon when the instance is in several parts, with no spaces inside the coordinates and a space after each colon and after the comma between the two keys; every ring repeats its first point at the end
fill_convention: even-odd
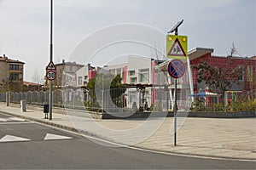
{"type": "Polygon", "coordinates": [[[187,59],[188,37],[167,35],[166,37],[166,58],[187,59]]]}

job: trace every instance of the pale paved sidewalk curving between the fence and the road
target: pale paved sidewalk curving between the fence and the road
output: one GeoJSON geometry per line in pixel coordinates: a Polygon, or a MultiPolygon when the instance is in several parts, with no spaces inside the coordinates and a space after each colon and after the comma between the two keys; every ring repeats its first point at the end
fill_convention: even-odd
{"type": "Polygon", "coordinates": [[[148,150],[256,161],[256,118],[177,117],[174,146],[172,117],[96,120],[68,111],[67,115],[53,113],[49,121],[42,111],[21,112],[4,103],[0,103],[0,112],[148,150]]]}

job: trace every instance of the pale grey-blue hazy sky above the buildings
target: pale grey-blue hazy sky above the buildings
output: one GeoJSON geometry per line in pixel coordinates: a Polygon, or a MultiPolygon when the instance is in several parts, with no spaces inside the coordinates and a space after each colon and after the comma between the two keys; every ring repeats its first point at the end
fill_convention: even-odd
{"type": "MultiPolygon", "coordinates": [[[[255,11],[255,0],[54,0],[53,58],[55,64],[66,59],[105,65],[125,54],[152,54],[140,53],[150,51],[145,44],[164,54],[166,32],[179,20],[184,21],[178,33],[189,37],[189,49],[214,48],[214,55],[226,56],[234,43],[237,56],[251,57],[256,54],[255,11]],[[133,45],[119,42],[124,38],[133,45]],[[105,56],[112,58],[103,61],[105,56]]],[[[26,63],[25,81],[35,72],[44,77],[49,0],[0,0],[3,54],[26,63]]]]}

